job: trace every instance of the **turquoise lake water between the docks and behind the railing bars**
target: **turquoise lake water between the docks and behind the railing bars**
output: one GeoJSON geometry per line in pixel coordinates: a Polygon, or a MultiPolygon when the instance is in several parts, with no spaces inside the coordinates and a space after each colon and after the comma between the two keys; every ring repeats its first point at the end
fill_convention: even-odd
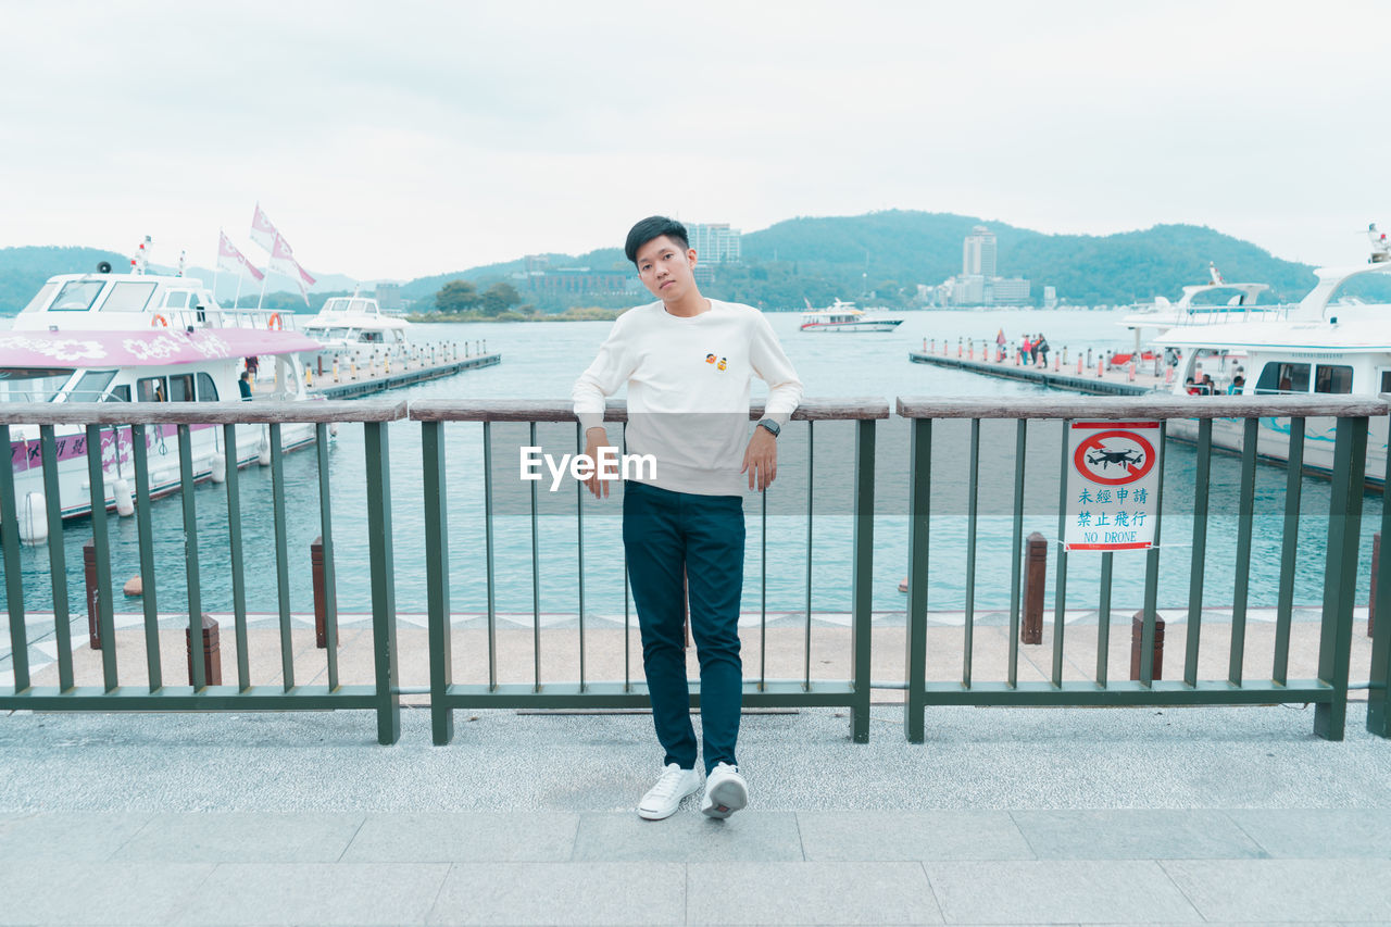
{"type": "MultiPolygon", "coordinates": [[[[949,395],[1039,395],[1038,387],[946,370],[908,360],[908,351],[924,338],[958,337],[993,341],[1004,328],[1011,341],[1025,331],[1043,331],[1054,351],[1064,347],[1071,356],[1092,348],[1129,348],[1129,335],[1116,324],[1125,310],[996,310],[996,312],[914,312],[904,313],[900,330],[875,335],[826,335],[797,331],[796,313],[769,316],[789,358],[801,376],[808,398],[874,397],[890,404],[896,397],[949,395]]],[[[606,322],[545,324],[424,324],[417,341],[485,340],[490,351],[502,354],[502,363],[465,372],[377,398],[476,398],[476,399],[561,399],[568,401],[574,377],[594,356],[609,330],[606,322]]],[[[764,393],[755,381],[755,395],[764,393]]],[[[538,564],[533,572],[531,519],[517,501],[516,447],[529,441],[527,426],[498,425],[494,431],[494,486],[498,490],[495,540],[495,596],[499,611],[530,612],[533,576],[540,578],[542,612],[573,614],[577,607],[577,496],[568,490],[551,496],[544,489],[537,518],[538,564]]],[[[815,611],[844,611],[850,605],[851,525],[850,494],[853,426],[821,423],[815,427],[814,536],[811,560],[811,605],[815,611]]],[[[541,444],[548,452],[569,452],[574,447],[573,425],[541,426],[541,444]]],[[[420,426],[409,422],[389,426],[392,522],[396,566],[396,604],[401,611],[424,611],[424,501],[420,469],[420,426]]],[[[1008,604],[1011,519],[1014,480],[1013,422],[986,422],[982,427],[981,521],[978,528],[978,569],[975,605],[1002,608],[1008,604]]],[[[1057,537],[1059,502],[1057,423],[1031,423],[1025,533],[1038,530],[1057,537]]],[[[779,483],[768,494],[764,522],[762,501],[746,500],[748,557],[744,608],[759,608],[766,576],[766,605],[772,611],[801,611],[807,607],[808,543],[807,511],[807,426],[793,423],[779,440],[779,483]],[[766,530],[766,564],[759,555],[759,539],[766,530]]],[[[932,564],[929,607],[961,608],[965,596],[964,564],[967,539],[967,426],[939,423],[935,427],[932,564]]],[[[485,608],[483,544],[483,454],[481,426],[447,426],[449,468],[451,604],[455,611],[485,608]]],[[[907,423],[889,419],[878,425],[876,518],[874,607],[901,611],[906,597],[897,592],[907,572],[907,423]]],[[[366,486],[360,426],[342,426],[331,450],[332,525],[337,546],[338,603],[342,611],[370,610],[366,541],[366,486]]],[[[1187,601],[1191,565],[1192,519],[1187,509],[1193,484],[1193,450],[1170,441],[1164,454],[1164,507],[1160,554],[1160,605],[1187,601]]],[[[1238,459],[1217,455],[1213,461],[1209,547],[1203,564],[1205,601],[1227,605],[1232,599],[1238,498],[1238,459]]],[[[241,472],[242,521],[246,575],[250,582],[248,607],[275,611],[275,564],[270,515],[268,469],[241,472]]],[[[313,608],[309,575],[309,543],[320,533],[317,468],[312,454],[285,458],[288,529],[291,539],[291,605],[296,612],[313,608]]],[[[1295,600],[1317,604],[1323,597],[1323,551],[1327,540],[1330,486],[1305,479],[1301,519],[1301,555],[1295,600]]],[[[1284,515],[1285,472],[1262,465],[1256,482],[1256,530],[1251,564],[1251,604],[1276,603],[1280,539],[1284,515]]],[[[196,493],[199,557],[203,608],[231,610],[231,572],[227,562],[227,507],[224,487],[204,484],[196,493]]],[[[1359,601],[1366,600],[1370,571],[1370,534],[1380,526],[1380,496],[1367,496],[1363,509],[1362,568],[1359,601]]],[[[622,614],[623,562],[616,500],[584,502],[584,590],[586,611],[622,614]]],[[[159,562],[159,605],[161,611],[186,610],[184,579],[182,509],[177,497],[152,507],[159,562]]],[[[120,586],[139,572],[135,519],[110,518],[113,576],[120,586]]],[[[81,547],[90,540],[90,523],[78,521],[64,528],[68,558],[68,596],[78,610],[83,600],[81,547]]],[[[1050,550],[1047,594],[1052,605],[1056,548],[1050,550]]],[[[1095,607],[1100,557],[1070,557],[1068,605],[1095,607]]],[[[25,604],[31,611],[51,607],[46,547],[25,548],[25,604]]],[[[6,569],[10,565],[6,564],[6,569]]],[[[1145,554],[1116,555],[1114,608],[1127,619],[1139,608],[1143,589],[1145,554]]],[[[118,600],[118,611],[135,611],[136,600],[118,600]]]]}

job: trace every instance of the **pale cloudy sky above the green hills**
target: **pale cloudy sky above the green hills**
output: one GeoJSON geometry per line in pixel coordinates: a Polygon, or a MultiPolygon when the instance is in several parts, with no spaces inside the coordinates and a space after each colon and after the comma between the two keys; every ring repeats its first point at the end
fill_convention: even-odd
{"type": "Polygon", "coordinates": [[[0,0],[0,246],[409,280],[643,216],[1391,228],[1391,4],[0,0]]]}

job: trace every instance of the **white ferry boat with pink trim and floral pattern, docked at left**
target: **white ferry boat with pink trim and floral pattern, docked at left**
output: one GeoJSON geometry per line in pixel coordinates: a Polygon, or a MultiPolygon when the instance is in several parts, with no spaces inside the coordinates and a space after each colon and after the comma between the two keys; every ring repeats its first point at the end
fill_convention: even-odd
{"type": "MultiPolygon", "coordinates": [[[[136,273],[51,277],[0,331],[0,402],[239,402],[246,359],[256,359],[250,401],[303,401],[299,352],[317,345],[294,330],[287,312],[221,309],[202,281],[136,273]]],[[[86,433],[56,426],[63,518],[90,514],[86,433]]],[[[177,426],[146,426],[150,491],[179,487],[177,426]]],[[[39,427],[10,427],[19,533],[47,533],[39,427]]],[[[221,480],[228,461],[223,429],[189,429],[195,479],[221,480]]],[[[314,440],[312,425],[285,425],[285,450],[314,440]]],[[[235,466],[270,459],[270,429],[236,427],[235,466]]],[[[102,469],[107,508],[131,512],[135,486],[129,427],[103,427],[102,469]]]]}

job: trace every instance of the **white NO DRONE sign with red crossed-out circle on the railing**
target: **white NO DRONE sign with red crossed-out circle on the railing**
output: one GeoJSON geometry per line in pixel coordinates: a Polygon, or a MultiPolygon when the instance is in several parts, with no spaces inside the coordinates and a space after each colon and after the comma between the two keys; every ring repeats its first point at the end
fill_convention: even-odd
{"type": "Polygon", "coordinates": [[[1159,422],[1070,422],[1067,550],[1145,550],[1155,546],[1159,422]]]}

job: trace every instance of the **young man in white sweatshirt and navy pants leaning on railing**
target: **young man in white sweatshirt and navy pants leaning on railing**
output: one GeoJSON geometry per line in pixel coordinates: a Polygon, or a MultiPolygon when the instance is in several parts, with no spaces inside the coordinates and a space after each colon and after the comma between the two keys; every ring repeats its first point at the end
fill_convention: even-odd
{"type": "MultiPolygon", "coordinates": [[[[801,383],[772,326],[750,306],[707,299],[696,285],[686,228],[664,216],[633,225],[625,252],[658,302],[619,316],[594,363],[574,383],[586,454],[611,447],[604,398],[627,386],[627,452],[651,454],[655,473],[623,490],[623,547],[643,635],[664,772],[637,813],[670,817],[696,793],[696,731],[686,681],[684,600],[700,658],[705,796],[701,811],[725,818],[748,803],[734,742],[743,700],[739,603],[744,582],[741,484],[762,491],[778,475],[778,433],[801,399],[801,383]],[[769,386],[766,416],[750,436],[748,384],[769,386]]],[[[608,482],[587,480],[595,497],[608,482]]]]}

